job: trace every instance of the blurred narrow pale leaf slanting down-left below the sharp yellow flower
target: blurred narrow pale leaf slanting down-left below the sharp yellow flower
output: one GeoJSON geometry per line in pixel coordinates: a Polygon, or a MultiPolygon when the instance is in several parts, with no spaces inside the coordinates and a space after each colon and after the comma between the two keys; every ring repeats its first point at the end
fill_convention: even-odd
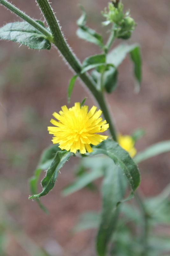
{"type": "Polygon", "coordinates": [[[102,176],[103,176],[103,172],[100,169],[95,169],[91,172],[86,172],[84,174],[81,174],[81,176],[78,176],[72,184],[68,185],[62,190],[62,195],[68,196],[80,190],[81,188],[86,187],[90,182],[102,176]]]}

